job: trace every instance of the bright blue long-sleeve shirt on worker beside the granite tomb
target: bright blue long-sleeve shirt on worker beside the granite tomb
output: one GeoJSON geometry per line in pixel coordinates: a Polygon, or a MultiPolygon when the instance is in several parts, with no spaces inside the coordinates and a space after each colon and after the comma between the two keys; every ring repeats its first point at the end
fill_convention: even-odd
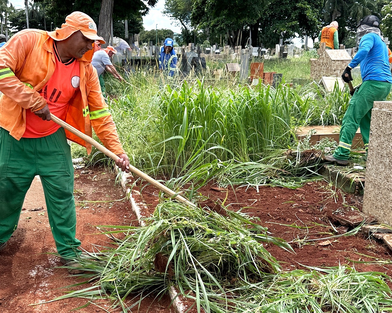
{"type": "Polygon", "coordinates": [[[362,81],[387,81],[392,83],[389,69],[388,48],[376,33],[366,34],[361,38],[359,48],[349,67],[361,63],[362,81]]]}

